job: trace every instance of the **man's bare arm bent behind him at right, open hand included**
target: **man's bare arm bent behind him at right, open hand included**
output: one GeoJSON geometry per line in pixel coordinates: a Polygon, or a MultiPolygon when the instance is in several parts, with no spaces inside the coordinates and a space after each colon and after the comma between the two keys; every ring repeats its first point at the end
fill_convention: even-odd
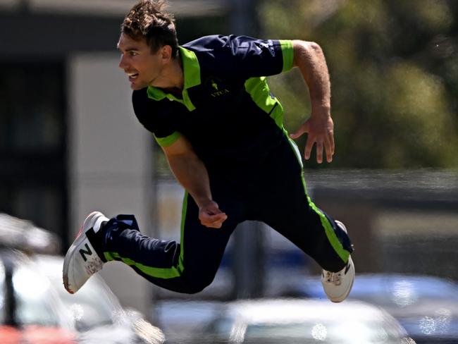
{"type": "Polygon", "coordinates": [[[304,157],[310,158],[311,149],[316,145],[316,161],[331,162],[334,154],[334,123],[330,116],[330,80],[328,66],[321,47],[315,42],[292,41],[293,66],[298,67],[309,87],[311,114],[297,131],[290,135],[297,139],[307,133],[304,157]]]}

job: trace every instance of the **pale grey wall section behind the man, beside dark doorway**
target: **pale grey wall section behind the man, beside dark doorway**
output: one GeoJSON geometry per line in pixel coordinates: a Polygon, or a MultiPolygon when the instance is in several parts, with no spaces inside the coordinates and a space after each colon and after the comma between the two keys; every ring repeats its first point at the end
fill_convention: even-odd
{"type": "MultiPolygon", "coordinates": [[[[93,210],[135,214],[151,233],[151,135],[138,123],[118,54],[68,59],[70,238],[93,210]]],[[[124,306],[149,314],[151,285],[120,262],[101,272],[124,306]]]]}

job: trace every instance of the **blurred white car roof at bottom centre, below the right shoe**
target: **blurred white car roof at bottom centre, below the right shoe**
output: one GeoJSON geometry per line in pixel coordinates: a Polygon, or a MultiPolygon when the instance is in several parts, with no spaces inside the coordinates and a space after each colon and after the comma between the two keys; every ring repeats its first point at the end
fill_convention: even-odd
{"type": "Polygon", "coordinates": [[[366,302],[245,300],[221,310],[194,343],[415,343],[390,314],[366,302]]]}

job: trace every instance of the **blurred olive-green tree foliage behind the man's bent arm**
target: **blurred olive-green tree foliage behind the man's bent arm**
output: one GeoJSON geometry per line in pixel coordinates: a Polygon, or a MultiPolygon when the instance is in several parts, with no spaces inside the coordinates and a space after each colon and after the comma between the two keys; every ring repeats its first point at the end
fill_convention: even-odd
{"type": "MultiPolygon", "coordinates": [[[[458,1],[265,0],[258,13],[263,36],[325,52],[333,167],[458,167],[458,1]]],[[[298,71],[271,89],[294,130],[309,113],[298,71]]]]}

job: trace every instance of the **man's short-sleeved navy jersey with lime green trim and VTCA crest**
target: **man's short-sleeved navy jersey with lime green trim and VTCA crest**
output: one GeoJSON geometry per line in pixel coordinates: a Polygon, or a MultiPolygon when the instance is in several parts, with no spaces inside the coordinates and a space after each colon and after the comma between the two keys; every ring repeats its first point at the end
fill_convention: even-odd
{"type": "Polygon", "coordinates": [[[292,68],[292,42],[206,36],[180,47],[182,97],[134,91],[135,115],[161,146],[184,135],[209,166],[256,161],[284,135],[283,108],[266,76],[292,68]]]}

